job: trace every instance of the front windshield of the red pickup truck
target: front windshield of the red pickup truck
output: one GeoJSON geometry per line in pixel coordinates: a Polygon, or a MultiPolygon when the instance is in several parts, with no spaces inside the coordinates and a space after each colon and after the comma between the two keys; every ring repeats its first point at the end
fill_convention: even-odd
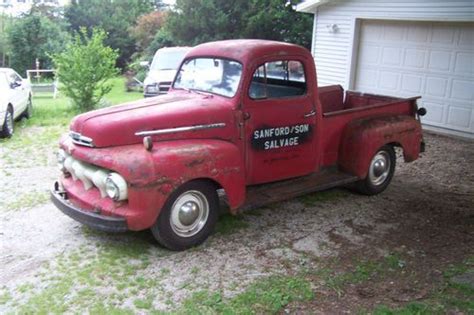
{"type": "Polygon", "coordinates": [[[233,97],[241,76],[242,64],[236,61],[193,58],[183,63],[173,87],[233,97]]]}

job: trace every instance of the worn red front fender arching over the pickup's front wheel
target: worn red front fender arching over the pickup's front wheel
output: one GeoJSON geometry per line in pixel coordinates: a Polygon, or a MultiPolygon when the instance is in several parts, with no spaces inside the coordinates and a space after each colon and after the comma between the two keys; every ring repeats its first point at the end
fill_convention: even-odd
{"type": "Polygon", "coordinates": [[[231,209],[245,199],[245,168],[237,146],[214,139],[155,142],[151,151],[142,144],[108,148],[78,146],[64,136],[61,147],[74,157],[122,175],[129,185],[129,206],[117,205],[116,215],[127,217],[128,227],[153,225],[170,194],[195,179],[217,183],[231,209]]]}

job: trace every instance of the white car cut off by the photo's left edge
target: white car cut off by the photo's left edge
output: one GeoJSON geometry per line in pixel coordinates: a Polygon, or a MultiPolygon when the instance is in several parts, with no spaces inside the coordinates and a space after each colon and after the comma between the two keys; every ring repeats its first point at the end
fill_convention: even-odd
{"type": "Polygon", "coordinates": [[[31,87],[10,68],[0,68],[0,138],[13,135],[13,121],[30,118],[32,111],[31,87]]]}

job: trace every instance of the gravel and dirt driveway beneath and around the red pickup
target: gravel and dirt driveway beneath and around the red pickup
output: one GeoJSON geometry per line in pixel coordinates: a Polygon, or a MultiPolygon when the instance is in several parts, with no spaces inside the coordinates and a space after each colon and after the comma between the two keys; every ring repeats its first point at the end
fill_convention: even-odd
{"type": "MultiPolygon", "coordinates": [[[[52,148],[45,149],[41,167],[15,163],[24,160],[24,151],[0,148],[0,313],[21,312],[38,297],[54,295],[51,287],[63,284],[58,281],[68,273],[88,260],[107,264],[110,250],[123,244],[144,253],[114,252],[125,265],[142,266],[131,271],[134,281],[154,282],[122,290],[123,281],[104,271],[102,283],[90,289],[135,313],[174,310],[202,289],[232,298],[276,274],[304,274],[314,293],[312,299],[290,301],[282,313],[438,303],[446,272],[474,255],[474,142],[433,134],[425,140],[426,153],[413,163],[403,163],[398,152],[395,177],[378,196],[336,189],[235,220],[224,217],[225,224],[204,245],[180,253],[160,248],[147,232],[112,235],[82,227],[47,200],[58,174],[52,148]]],[[[62,310],[83,312],[87,306],[74,302],[79,282],[71,281],[61,295],[70,303],[62,310]]],[[[456,305],[443,310],[459,312],[456,305]]]]}

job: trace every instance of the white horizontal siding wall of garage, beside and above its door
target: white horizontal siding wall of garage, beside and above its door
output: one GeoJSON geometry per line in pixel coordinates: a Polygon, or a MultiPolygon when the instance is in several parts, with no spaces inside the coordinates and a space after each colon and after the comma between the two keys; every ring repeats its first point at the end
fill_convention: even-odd
{"type": "Polygon", "coordinates": [[[474,21],[473,1],[330,1],[314,9],[312,53],[318,84],[353,88],[360,21],[474,21]],[[330,27],[337,25],[337,31],[330,27]]]}

